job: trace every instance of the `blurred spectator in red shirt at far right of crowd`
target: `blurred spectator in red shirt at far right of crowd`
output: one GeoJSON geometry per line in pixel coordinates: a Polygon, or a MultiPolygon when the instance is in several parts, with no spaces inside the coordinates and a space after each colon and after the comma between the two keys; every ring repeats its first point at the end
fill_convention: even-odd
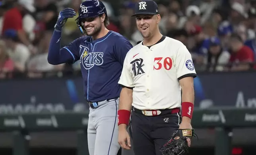
{"type": "Polygon", "coordinates": [[[250,66],[254,62],[254,53],[252,49],[244,45],[239,35],[231,35],[230,48],[232,50],[229,60],[232,64],[231,70],[241,71],[250,69],[250,66]]]}

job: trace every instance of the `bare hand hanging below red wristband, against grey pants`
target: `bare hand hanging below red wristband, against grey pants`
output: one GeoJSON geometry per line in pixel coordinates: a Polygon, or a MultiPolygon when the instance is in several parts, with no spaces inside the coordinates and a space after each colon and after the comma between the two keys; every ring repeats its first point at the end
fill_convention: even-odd
{"type": "Polygon", "coordinates": [[[131,149],[130,135],[126,128],[118,129],[118,143],[123,149],[131,149]]]}

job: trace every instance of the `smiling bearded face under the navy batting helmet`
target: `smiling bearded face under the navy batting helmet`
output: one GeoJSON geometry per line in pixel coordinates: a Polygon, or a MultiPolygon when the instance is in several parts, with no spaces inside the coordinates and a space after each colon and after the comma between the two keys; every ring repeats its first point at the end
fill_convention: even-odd
{"type": "Polygon", "coordinates": [[[104,25],[105,14],[97,17],[89,17],[81,19],[82,26],[85,29],[87,36],[94,36],[99,34],[104,25]]]}

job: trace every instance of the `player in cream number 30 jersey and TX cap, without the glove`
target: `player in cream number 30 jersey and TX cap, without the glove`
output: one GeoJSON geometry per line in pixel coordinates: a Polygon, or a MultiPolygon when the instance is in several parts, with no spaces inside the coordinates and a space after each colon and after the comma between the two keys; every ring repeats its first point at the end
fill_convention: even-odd
{"type": "MultiPolygon", "coordinates": [[[[118,143],[131,147],[126,131],[131,114],[135,155],[161,155],[159,148],[175,131],[192,129],[196,71],[186,46],[159,32],[157,4],[142,0],[135,7],[133,16],[144,40],[128,51],[118,81],[118,143]]],[[[187,142],[190,146],[190,138],[187,142]]]]}

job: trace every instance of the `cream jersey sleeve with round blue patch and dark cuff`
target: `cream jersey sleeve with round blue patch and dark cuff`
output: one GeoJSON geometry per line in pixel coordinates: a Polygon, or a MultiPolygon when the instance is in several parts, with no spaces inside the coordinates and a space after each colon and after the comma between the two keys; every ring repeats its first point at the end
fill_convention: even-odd
{"type": "Polygon", "coordinates": [[[194,63],[192,61],[191,54],[185,45],[180,46],[176,53],[175,64],[177,67],[177,78],[186,74],[196,74],[194,63]]]}

